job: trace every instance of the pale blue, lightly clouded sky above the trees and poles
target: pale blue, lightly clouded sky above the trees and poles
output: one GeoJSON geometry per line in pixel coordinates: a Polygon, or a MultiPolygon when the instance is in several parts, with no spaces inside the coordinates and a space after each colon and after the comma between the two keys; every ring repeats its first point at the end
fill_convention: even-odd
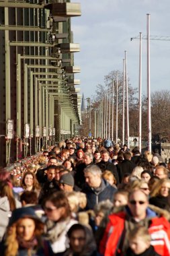
{"type": "MultiPolygon", "coordinates": [[[[97,84],[104,85],[110,71],[123,70],[127,51],[128,78],[138,88],[139,43],[130,38],[142,32],[146,36],[146,13],[150,13],[151,36],[169,36],[169,40],[151,40],[151,92],[170,90],[170,1],[169,0],[72,0],[81,3],[80,17],[71,19],[75,66],[81,73],[81,94],[95,94],[97,84]]],[[[142,40],[142,94],[146,94],[146,40],[142,40]]]]}

